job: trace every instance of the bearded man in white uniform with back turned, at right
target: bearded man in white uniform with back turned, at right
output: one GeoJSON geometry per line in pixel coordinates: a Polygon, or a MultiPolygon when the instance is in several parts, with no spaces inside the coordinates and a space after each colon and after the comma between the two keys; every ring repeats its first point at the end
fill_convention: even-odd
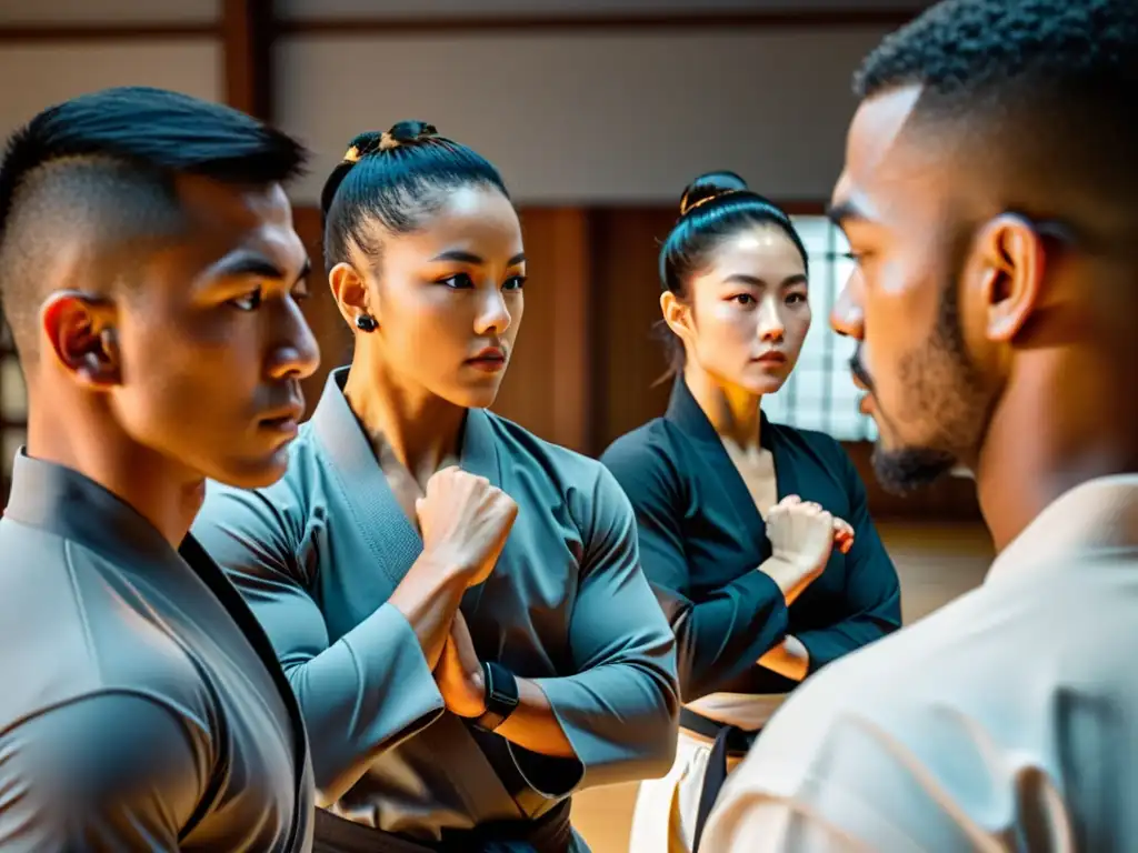
{"type": "Polygon", "coordinates": [[[950,0],[857,86],[833,323],[877,475],[970,467],[999,556],[795,691],[706,850],[1138,850],[1138,3],[950,0]]]}

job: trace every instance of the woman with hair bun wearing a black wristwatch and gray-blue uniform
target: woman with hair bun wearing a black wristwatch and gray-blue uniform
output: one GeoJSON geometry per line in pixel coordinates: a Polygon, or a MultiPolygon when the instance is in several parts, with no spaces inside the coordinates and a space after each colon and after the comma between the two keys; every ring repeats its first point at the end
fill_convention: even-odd
{"type": "Polygon", "coordinates": [[[430,125],[352,141],[322,194],[355,334],[277,486],[196,536],[299,697],[316,850],[566,853],[583,786],[662,776],[675,639],[609,471],[486,408],[526,257],[497,171],[430,125]]]}

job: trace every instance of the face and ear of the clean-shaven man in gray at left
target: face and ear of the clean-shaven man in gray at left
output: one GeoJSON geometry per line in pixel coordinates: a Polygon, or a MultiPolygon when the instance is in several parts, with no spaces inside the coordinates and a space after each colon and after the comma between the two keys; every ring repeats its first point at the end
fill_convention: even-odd
{"type": "Polygon", "coordinates": [[[106,395],[138,444],[242,488],[283,475],[320,351],[297,304],[308,258],[279,185],[181,177],[160,250],[123,257],[113,298],[59,292],[41,312],[57,363],[106,395]]]}

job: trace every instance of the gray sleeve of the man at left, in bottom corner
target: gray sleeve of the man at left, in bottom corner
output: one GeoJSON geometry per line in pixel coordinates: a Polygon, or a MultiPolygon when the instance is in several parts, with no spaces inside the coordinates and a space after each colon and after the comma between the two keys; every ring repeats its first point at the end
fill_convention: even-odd
{"type": "Polygon", "coordinates": [[[178,851],[209,786],[209,738],[131,694],[99,694],[0,735],[0,850],[178,851]]]}

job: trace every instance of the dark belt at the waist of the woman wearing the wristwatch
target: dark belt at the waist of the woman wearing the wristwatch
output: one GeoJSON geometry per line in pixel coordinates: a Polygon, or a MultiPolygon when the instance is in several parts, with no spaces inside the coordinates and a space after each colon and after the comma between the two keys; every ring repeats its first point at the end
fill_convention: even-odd
{"type": "Polygon", "coordinates": [[[316,810],[313,853],[568,853],[572,843],[569,801],[535,820],[503,820],[472,829],[444,829],[440,842],[385,833],[316,810]]]}

